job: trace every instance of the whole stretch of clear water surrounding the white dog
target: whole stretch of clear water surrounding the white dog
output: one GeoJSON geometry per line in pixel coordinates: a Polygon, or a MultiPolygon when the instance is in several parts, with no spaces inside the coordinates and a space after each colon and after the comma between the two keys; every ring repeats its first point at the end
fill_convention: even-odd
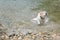
{"type": "Polygon", "coordinates": [[[16,33],[21,30],[24,32],[28,28],[32,29],[33,32],[37,32],[38,30],[59,31],[59,25],[55,25],[54,23],[41,27],[32,24],[30,21],[32,18],[36,17],[40,9],[46,10],[52,20],[60,20],[60,11],[57,11],[59,10],[59,3],[59,0],[58,2],[56,0],[0,0],[0,23],[6,25],[7,27],[13,27],[12,29],[9,28],[8,34],[14,30],[16,31],[16,33]],[[55,4],[55,2],[58,7],[55,7],[54,5],[52,6],[53,3],[55,4]],[[20,30],[20,26],[28,27],[26,29],[21,28],[20,30]]]}

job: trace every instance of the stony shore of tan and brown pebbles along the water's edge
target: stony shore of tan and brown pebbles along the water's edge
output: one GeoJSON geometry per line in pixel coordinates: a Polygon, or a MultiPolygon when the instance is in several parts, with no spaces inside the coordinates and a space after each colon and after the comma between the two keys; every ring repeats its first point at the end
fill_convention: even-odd
{"type": "Polygon", "coordinates": [[[20,32],[19,34],[13,33],[8,35],[6,30],[7,29],[0,24],[0,40],[60,40],[60,34],[54,31],[27,32],[25,35],[20,32]]]}

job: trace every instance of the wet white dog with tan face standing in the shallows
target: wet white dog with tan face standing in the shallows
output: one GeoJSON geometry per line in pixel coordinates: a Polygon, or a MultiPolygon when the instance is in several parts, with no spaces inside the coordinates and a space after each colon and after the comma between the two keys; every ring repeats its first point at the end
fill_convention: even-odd
{"type": "Polygon", "coordinates": [[[36,18],[33,18],[31,20],[33,23],[41,24],[44,23],[46,24],[48,22],[48,15],[46,11],[40,11],[37,15],[36,18]]]}

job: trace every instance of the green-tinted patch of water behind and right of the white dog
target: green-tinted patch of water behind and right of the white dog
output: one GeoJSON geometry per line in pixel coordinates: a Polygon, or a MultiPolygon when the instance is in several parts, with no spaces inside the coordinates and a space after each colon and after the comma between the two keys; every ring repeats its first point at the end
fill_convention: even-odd
{"type": "Polygon", "coordinates": [[[58,22],[60,21],[60,0],[40,0],[37,8],[33,10],[46,10],[51,20],[58,22]]]}

